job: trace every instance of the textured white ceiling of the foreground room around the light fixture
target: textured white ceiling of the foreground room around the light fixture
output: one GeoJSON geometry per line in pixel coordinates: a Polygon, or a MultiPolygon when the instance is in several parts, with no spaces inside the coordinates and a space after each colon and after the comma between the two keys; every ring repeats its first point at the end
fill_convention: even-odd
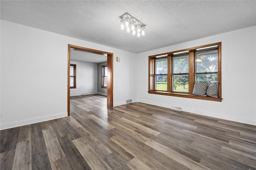
{"type": "Polygon", "coordinates": [[[1,19],[141,53],[256,25],[256,1],[0,1],[1,19]],[[128,12],[146,36],[120,30],[128,12]]]}

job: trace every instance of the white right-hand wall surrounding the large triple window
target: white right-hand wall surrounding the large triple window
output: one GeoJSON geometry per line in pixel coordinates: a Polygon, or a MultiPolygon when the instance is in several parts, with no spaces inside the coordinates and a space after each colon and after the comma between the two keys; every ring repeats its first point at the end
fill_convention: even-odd
{"type": "Polygon", "coordinates": [[[256,125],[256,26],[189,41],[137,57],[138,101],[256,125]],[[222,102],[148,94],[148,56],[222,42],[222,102]]]}

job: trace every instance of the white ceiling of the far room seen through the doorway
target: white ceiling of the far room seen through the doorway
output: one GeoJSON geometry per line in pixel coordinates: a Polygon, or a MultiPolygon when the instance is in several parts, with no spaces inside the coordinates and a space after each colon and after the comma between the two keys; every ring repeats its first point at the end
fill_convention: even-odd
{"type": "Polygon", "coordinates": [[[102,63],[107,61],[106,55],[99,55],[94,53],[88,53],[85,51],[78,51],[76,49],[70,49],[70,60],[83,61],[87,63],[102,63]]]}

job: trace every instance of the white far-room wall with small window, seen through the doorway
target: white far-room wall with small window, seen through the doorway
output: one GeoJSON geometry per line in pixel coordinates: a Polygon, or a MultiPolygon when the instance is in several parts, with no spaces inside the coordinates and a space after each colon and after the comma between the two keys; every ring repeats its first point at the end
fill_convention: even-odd
{"type": "Polygon", "coordinates": [[[70,89],[70,96],[97,94],[97,64],[81,61],[70,61],[76,64],[76,88],[70,89]]]}

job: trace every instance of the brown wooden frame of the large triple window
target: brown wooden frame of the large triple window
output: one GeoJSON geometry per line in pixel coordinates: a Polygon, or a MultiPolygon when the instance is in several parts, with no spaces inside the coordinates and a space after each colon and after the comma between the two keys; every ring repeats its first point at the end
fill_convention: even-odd
{"type": "MultiPolygon", "coordinates": [[[[163,57],[164,58],[164,57],[163,57]]],[[[208,72],[210,73],[210,72],[208,72]]],[[[221,42],[219,43],[213,43],[213,44],[208,44],[208,45],[202,45],[199,47],[193,47],[193,48],[189,48],[189,49],[183,49],[183,50],[179,50],[179,51],[173,51],[173,52],[168,52],[168,53],[162,53],[162,54],[158,54],[158,55],[152,55],[152,56],[148,56],[148,93],[149,94],[160,94],[160,95],[166,95],[166,96],[176,96],[176,97],[183,97],[183,98],[193,98],[193,99],[201,99],[201,100],[211,100],[211,101],[218,101],[221,102],[222,101],[222,91],[221,91],[221,42]],[[193,95],[193,88],[194,88],[194,82],[195,82],[195,75],[196,75],[196,60],[195,60],[195,54],[198,52],[197,49],[200,48],[205,48],[201,51],[208,51],[208,50],[213,50],[207,47],[212,47],[212,46],[216,46],[218,45],[218,47],[213,48],[214,50],[218,50],[218,82],[219,82],[219,90],[218,90],[218,98],[212,98],[212,97],[204,97],[204,96],[196,96],[193,95]],[[187,51],[186,53],[182,53],[182,52],[187,51]],[[188,93],[184,93],[184,92],[173,92],[172,91],[172,58],[179,56],[179,55],[174,55],[174,53],[182,53],[180,55],[186,55],[188,54],[189,56],[189,72],[188,72],[188,93]],[[159,91],[159,90],[155,90],[155,63],[156,63],[156,59],[160,59],[159,56],[165,56],[167,55],[167,59],[168,59],[168,74],[167,74],[167,91],[159,91]],[[159,58],[158,58],[159,57],[159,58]]]]}

